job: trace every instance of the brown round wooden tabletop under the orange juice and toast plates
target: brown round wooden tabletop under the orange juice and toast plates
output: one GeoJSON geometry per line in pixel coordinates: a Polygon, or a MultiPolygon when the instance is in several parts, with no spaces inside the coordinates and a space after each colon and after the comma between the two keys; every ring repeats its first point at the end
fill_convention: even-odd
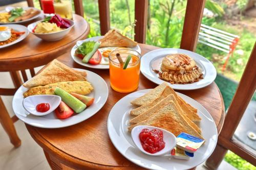
{"type": "MultiPolygon", "coordinates": [[[[139,44],[141,54],[158,47],[139,44]]],[[[109,98],[102,109],[93,117],[74,126],[60,129],[42,129],[26,125],[33,139],[44,149],[47,160],[53,169],[143,169],[124,158],[112,144],[107,130],[110,110],[127,93],[119,93],[110,87],[109,70],[86,68],[76,64],[70,54],[57,58],[70,67],[88,69],[100,75],[108,84],[109,98]]],[[[137,90],[154,88],[157,85],[140,75],[137,90]]],[[[218,132],[224,122],[224,104],[219,88],[215,83],[197,90],[179,92],[190,96],[202,104],[214,118],[218,132]]]]}

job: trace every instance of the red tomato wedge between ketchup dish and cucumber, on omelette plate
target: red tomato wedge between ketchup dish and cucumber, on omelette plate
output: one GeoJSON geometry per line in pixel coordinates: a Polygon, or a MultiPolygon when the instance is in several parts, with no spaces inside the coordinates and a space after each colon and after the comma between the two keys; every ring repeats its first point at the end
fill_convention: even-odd
{"type": "Polygon", "coordinates": [[[54,110],[54,112],[57,118],[65,119],[72,116],[74,110],[72,110],[66,103],[61,101],[57,109],[54,110]]]}

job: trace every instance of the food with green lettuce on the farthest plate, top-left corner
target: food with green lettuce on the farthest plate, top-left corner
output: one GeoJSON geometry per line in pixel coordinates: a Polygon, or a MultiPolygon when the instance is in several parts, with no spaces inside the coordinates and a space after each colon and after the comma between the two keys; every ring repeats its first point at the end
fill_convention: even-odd
{"type": "Polygon", "coordinates": [[[34,10],[33,8],[27,10],[24,10],[23,8],[14,8],[10,12],[0,13],[0,22],[25,21],[38,14],[40,14],[40,11],[34,10]]]}

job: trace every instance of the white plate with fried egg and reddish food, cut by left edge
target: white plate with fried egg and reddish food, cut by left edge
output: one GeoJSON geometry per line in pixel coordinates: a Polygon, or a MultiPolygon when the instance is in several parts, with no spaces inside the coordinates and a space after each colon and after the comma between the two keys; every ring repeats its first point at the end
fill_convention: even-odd
{"type": "Polygon", "coordinates": [[[0,25],[0,48],[22,41],[29,35],[27,27],[17,24],[0,25]]]}

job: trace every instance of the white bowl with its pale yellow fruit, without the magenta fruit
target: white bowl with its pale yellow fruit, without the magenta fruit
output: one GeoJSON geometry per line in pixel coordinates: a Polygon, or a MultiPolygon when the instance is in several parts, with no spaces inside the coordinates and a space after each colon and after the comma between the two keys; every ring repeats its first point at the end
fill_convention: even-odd
{"type": "Polygon", "coordinates": [[[28,26],[30,33],[34,34],[38,38],[45,41],[57,41],[65,37],[74,26],[74,21],[67,19],[70,22],[71,27],[67,29],[60,28],[56,23],[42,22],[39,20],[37,22],[31,23],[28,26]]]}

